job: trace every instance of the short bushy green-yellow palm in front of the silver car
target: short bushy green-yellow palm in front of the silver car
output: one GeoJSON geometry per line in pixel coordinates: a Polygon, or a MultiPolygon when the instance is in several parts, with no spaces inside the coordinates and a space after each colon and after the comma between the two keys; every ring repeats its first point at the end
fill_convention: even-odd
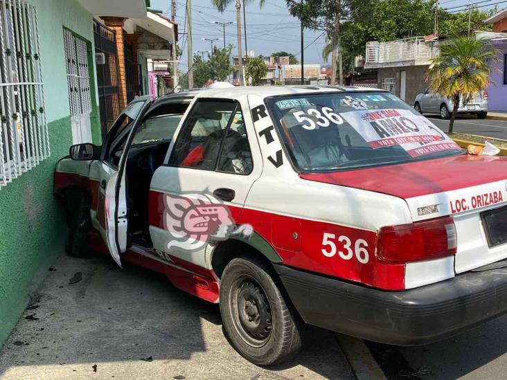
{"type": "Polygon", "coordinates": [[[465,105],[488,87],[491,72],[498,70],[492,65],[498,61],[499,54],[499,50],[472,33],[453,37],[440,46],[440,55],[430,61],[426,75],[429,90],[452,100],[450,134],[460,101],[465,105]]]}

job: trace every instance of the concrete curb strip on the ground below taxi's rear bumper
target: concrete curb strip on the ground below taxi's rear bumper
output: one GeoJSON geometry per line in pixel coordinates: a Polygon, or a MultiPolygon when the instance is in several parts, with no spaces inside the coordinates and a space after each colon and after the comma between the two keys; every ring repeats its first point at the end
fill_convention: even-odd
{"type": "Polygon", "coordinates": [[[357,380],[387,380],[364,341],[337,332],[335,337],[357,380]]]}

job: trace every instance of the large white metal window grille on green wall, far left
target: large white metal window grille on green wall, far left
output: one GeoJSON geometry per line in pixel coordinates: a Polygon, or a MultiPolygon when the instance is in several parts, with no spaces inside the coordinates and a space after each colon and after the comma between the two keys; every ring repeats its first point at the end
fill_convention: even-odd
{"type": "Polygon", "coordinates": [[[0,0],[0,189],[50,156],[37,10],[0,0]]]}

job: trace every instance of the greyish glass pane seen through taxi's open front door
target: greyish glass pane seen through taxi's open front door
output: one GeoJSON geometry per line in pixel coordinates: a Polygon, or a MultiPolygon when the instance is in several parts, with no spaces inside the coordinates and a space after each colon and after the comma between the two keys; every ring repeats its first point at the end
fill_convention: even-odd
{"type": "Polygon", "coordinates": [[[144,120],[132,139],[132,145],[170,141],[182,116],[183,114],[171,114],[144,120]]]}

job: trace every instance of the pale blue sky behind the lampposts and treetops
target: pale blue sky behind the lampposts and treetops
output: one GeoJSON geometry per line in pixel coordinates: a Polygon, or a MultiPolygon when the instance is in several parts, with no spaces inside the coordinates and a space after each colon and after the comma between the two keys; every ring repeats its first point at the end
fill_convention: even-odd
{"type": "MultiPolygon", "coordinates": [[[[441,0],[442,8],[450,11],[465,9],[463,6],[477,4],[481,10],[488,10],[495,3],[499,9],[507,7],[507,0],[441,0]],[[491,5],[490,5],[491,4],[491,5]]],[[[179,33],[186,32],[185,28],[185,5],[186,0],[176,1],[176,21],[178,22],[179,33]]],[[[170,16],[170,0],[151,0],[151,7],[162,10],[165,15],[170,16]]],[[[271,55],[275,51],[287,51],[296,55],[301,60],[301,39],[300,24],[298,19],[292,17],[287,10],[285,0],[265,0],[262,8],[258,0],[252,0],[247,4],[247,46],[249,51],[255,51],[256,55],[271,55]]],[[[220,13],[211,0],[192,0],[192,24],[193,24],[193,51],[211,50],[211,43],[202,41],[203,38],[221,38],[215,44],[224,46],[222,26],[211,24],[211,21],[235,21],[234,1],[231,6],[220,13]]],[[[242,26],[243,28],[243,26],[242,26]]],[[[226,27],[226,44],[236,45],[235,24],[226,27]]],[[[242,39],[244,50],[244,35],[242,39]]],[[[326,45],[325,36],[321,31],[305,30],[305,63],[324,63],[321,52],[326,45]]],[[[186,35],[179,35],[179,46],[184,47],[184,55],[179,63],[179,70],[186,71],[186,35]]],[[[233,55],[237,55],[237,48],[233,49],[233,55]]]]}

